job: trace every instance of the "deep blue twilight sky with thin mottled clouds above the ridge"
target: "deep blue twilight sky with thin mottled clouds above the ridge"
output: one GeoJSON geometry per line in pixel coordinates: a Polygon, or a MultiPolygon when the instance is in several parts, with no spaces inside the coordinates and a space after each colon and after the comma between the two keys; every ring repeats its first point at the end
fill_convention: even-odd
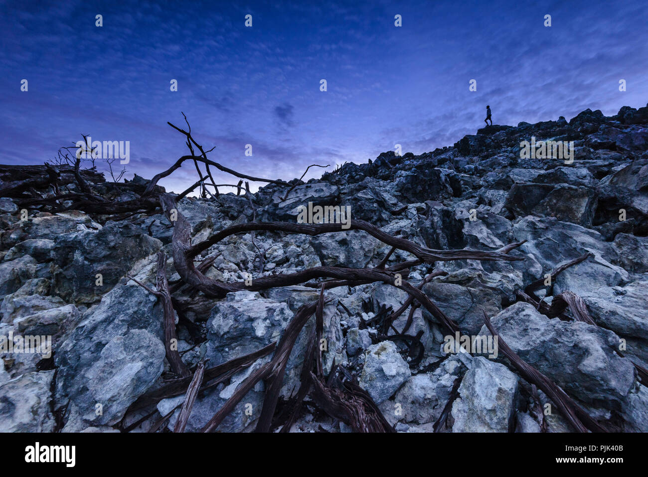
{"type": "MultiPolygon", "coordinates": [[[[167,124],[185,113],[209,159],[283,180],[329,165],[307,180],[452,145],[487,104],[513,125],[645,106],[647,27],[645,1],[0,1],[0,163],[89,134],[130,141],[125,177],[151,178],[188,154],[167,124]]],[[[185,163],[160,185],[196,180],[185,163]]]]}

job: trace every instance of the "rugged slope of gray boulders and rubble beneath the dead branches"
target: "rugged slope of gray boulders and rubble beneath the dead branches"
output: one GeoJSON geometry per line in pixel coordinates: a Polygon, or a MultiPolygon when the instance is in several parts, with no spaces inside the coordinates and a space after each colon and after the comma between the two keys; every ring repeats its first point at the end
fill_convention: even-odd
{"type": "MultiPolygon", "coordinates": [[[[503,342],[598,423],[646,432],[648,389],[640,380],[648,367],[647,124],[648,106],[624,107],[612,117],[586,110],[570,121],[490,126],[419,156],[388,152],[319,180],[295,180],[292,190],[271,184],[250,196],[183,198],[178,213],[191,226],[192,244],[253,220],[295,224],[299,207],[309,202],[350,205],[351,218],[426,250],[497,251],[524,242],[507,250],[519,260],[417,263],[412,253],[390,253],[389,244],[358,229],[312,236],[247,231],[224,237],[196,259],[219,283],[320,266],[380,268],[387,256],[388,268],[415,261],[403,279],[462,334],[489,336],[488,316],[503,342]],[[532,136],[573,141],[573,161],[521,158],[520,143],[532,136]],[[579,258],[554,273],[550,285],[527,288],[579,258]],[[575,307],[549,311],[570,296],[565,292],[584,303],[593,322],[579,319],[575,307]]],[[[163,416],[159,431],[174,430],[199,364],[209,369],[278,342],[297,310],[319,299],[320,279],[208,296],[174,267],[174,227],[160,209],[124,217],[27,206],[27,191],[14,184],[28,172],[0,166],[0,336],[51,336],[52,355],[0,354],[3,432],[139,432],[163,416]],[[179,379],[165,351],[163,300],[141,286],[156,288],[160,251],[168,257],[178,352],[191,375],[176,395],[155,399],[156,390],[179,379]]],[[[78,191],[72,172],[65,174],[67,190],[78,191]]],[[[93,191],[116,204],[142,194],[147,183],[136,176],[117,187],[84,174],[93,191]]],[[[43,197],[55,193],[42,181],[34,187],[43,197]]],[[[446,353],[448,330],[429,308],[406,303],[408,292],[380,281],[353,285],[325,291],[321,371],[352,383],[347,391],[366,391],[371,399],[358,399],[373,401],[395,430],[573,430],[504,353],[446,353]]],[[[305,380],[315,327],[316,318],[309,318],[290,351],[271,429],[288,422],[284,414],[305,380]]],[[[253,358],[203,386],[185,431],[205,427],[272,356],[253,358]]],[[[257,381],[216,430],[253,430],[266,391],[268,381],[257,381]]],[[[334,414],[310,392],[290,430],[354,429],[334,414]]]]}

